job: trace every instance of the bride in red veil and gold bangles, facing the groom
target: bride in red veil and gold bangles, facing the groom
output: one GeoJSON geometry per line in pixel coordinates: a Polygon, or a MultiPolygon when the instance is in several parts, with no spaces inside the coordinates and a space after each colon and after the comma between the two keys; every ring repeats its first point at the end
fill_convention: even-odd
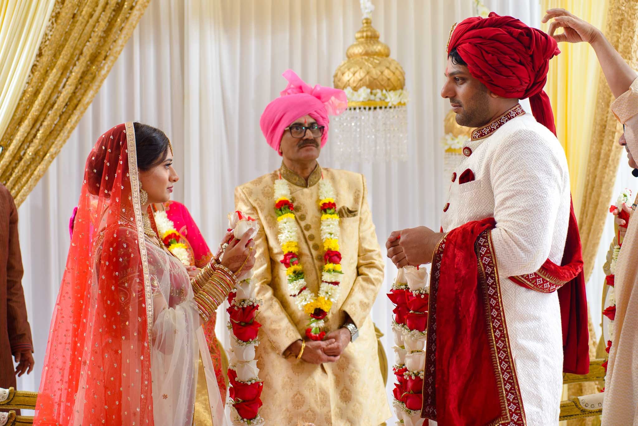
{"type": "Polygon", "coordinates": [[[34,425],[223,425],[201,325],[253,267],[244,237],[191,282],[149,206],[179,179],[167,136],[115,126],[89,154],[34,425]]]}

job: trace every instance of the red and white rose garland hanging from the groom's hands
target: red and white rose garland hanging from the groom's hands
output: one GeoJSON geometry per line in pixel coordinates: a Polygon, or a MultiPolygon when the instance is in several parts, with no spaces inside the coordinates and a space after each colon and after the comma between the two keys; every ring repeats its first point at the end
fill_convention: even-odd
{"type": "Polygon", "coordinates": [[[429,285],[424,268],[405,266],[397,273],[388,294],[394,303],[392,332],[394,333],[395,365],[392,406],[399,419],[397,426],[422,426],[423,377],[426,366],[426,330],[429,285]]]}

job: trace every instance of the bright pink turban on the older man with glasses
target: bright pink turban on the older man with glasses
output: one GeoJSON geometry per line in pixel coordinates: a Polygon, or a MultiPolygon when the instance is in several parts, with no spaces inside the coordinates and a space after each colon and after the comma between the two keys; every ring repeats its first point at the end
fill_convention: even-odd
{"type": "Polygon", "coordinates": [[[281,96],[266,106],[263,110],[259,125],[263,136],[272,149],[279,152],[281,137],[284,129],[294,120],[311,116],[317,124],[324,126],[321,146],[328,139],[328,114],[338,116],[348,107],[348,98],[343,90],[323,87],[318,84],[310,87],[300,79],[293,70],[286,70],[283,77],[288,80],[288,86],[281,91],[281,96]]]}

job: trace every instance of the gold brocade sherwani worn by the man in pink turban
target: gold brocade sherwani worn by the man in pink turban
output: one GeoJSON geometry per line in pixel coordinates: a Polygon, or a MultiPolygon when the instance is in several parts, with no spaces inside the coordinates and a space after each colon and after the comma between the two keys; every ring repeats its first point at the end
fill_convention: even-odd
{"type": "Polygon", "coordinates": [[[364,177],[317,165],[306,183],[282,164],[278,171],[238,186],[235,204],[261,224],[255,237],[253,280],[257,296],[263,300],[258,314],[262,343],[256,353],[264,386],[263,418],[274,425],[311,422],[317,426],[374,426],[385,422],[391,414],[370,317],[383,282],[383,259],[367,204],[364,177]],[[316,185],[322,173],[336,193],[344,275],[339,300],[332,305],[325,321],[330,330],[337,330],[343,326],[347,313],[359,328],[359,338],[348,344],[336,363],[313,365],[294,356],[282,356],[290,344],[305,336],[309,318],[289,296],[286,268],[279,262],[283,253],[274,210],[274,181],[280,171],[290,186],[299,225],[299,258],[308,289],[314,294],[319,289],[323,268],[319,185],[316,185]]]}

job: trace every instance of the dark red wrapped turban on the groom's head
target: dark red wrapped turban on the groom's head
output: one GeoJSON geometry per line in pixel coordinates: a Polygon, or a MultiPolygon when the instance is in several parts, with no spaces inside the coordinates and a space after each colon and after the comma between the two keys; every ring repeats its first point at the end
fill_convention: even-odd
{"type": "Polygon", "coordinates": [[[503,98],[530,98],[534,118],[556,134],[547,94],[549,59],[560,50],[556,40],[510,16],[468,18],[450,36],[448,54],[456,49],[470,74],[503,98]]]}

